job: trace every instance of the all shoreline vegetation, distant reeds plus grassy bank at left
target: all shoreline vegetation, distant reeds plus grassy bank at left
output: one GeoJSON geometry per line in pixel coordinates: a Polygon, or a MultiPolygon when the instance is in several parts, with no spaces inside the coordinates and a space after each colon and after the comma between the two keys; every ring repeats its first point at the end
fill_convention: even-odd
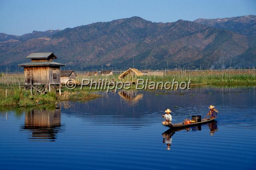
{"type": "MultiPolygon", "coordinates": [[[[152,72],[152,71],[151,71],[152,72]]],[[[247,70],[171,70],[162,72],[153,72],[154,74],[146,74],[138,76],[146,81],[153,82],[172,82],[173,79],[178,82],[191,80],[191,87],[202,85],[226,86],[226,85],[256,85],[255,69],[247,70]]],[[[86,72],[77,72],[76,80],[81,82],[83,78],[100,81],[108,79],[109,81],[118,82],[118,72],[113,76],[87,76],[86,72]]],[[[0,76],[0,106],[20,106],[33,107],[42,105],[54,105],[58,101],[88,101],[98,98],[101,95],[96,94],[98,90],[89,89],[89,87],[80,87],[69,90],[62,86],[62,95],[55,92],[47,94],[38,94],[33,90],[33,95],[30,95],[29,90],[24,90],[24,73],[1,73],[0,76]],[[6,94],[7,89],[7,94],[6,94]]],[[[134,90],[136,85],[130,88],[134,90]]]]}

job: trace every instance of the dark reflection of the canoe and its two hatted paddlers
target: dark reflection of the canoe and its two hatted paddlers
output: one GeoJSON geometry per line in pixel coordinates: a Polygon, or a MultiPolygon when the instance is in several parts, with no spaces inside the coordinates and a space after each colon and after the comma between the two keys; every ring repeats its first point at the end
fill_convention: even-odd
{"type": "MultiPolygon", "coordinates": [[[[217,126],[217,121],[212,121],[210,123],[208,123],[208,127],[210,129],[210,135],[212,136],[214,134],[214,132],[218,131],[218,126],[217,126]]],[[[164,133],[162,133],[163,136],[163,143],[167,145],[167,150],[170,150],[171,148],[171,144],[172,144],[172,136],[178,132],[178,131],[182,131],[182,130],[186,130],[186,132],[194,132],[197,130],[202,130],[202,126],[197,125],[197,126],[190,126],[190,127],[186,127],[186,128],[180,128],[180,129],[168,129],[166,130],[164,133]]]]}

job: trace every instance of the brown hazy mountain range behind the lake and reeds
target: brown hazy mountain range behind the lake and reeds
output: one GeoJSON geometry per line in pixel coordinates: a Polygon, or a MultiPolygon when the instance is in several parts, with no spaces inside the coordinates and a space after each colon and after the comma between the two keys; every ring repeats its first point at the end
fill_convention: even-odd
{"type": "Polygon", "coordinates": [[[151,22],[131,17],[64,30],[0,33],[0,70],[32,52],[54,52],[74,70],[218,69],[256,65],[256,16],[151,22]]]}

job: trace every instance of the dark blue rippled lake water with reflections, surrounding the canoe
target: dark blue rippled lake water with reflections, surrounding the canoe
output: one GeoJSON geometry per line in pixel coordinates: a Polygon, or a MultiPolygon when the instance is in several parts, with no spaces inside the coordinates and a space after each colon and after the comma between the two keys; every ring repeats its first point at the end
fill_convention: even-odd
{"type": "Polygon", "coordinates": [[[256,169],[255,87],[104,92],[58,107],[1,108],[1,170],[256,169]],[[182,122],[210,104],[216,122],[176,132],[161,124],[167,108],[182,122]]]}

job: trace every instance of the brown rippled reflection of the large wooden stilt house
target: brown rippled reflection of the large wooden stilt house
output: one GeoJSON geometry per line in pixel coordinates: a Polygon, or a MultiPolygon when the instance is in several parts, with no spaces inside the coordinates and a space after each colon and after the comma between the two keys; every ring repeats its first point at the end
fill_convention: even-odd
{"type": "Polygon", "coordinates": [[[58,132],[62,132],[60,108],[53,110],[32,109],[26,111],[25,124],[21,131],[32,132],[28,139],[36,141],[55,141],[58,132]],[[27,131],[29,130],[29,131],[27,131]]]}

